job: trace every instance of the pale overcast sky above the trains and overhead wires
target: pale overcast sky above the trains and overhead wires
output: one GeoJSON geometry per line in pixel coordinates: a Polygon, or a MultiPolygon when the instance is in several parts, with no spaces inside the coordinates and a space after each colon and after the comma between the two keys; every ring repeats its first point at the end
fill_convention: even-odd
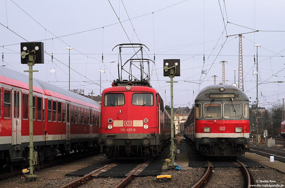
{"type": "MultiPolygon", "coordinates": [[[[216,83],[222,82],[221,61],[227,62],[226,83],[238,84],[238,71],[232,70],[238,69],[238,34],[252,32],[242,35],[244,92],[253,98],[250,101],[256,100],[253,45],[260,44],[259,104],[269,108],[280,100],[282,105],[285,83],[277,81],[285,81],[283,1],[2,0],[0,5],[1,65],[23,73],[29,68],[20,63],[20,43],[41,41],[44,64],[33,67],[39,70],[33,76],[68,89],[66,47],[73,47],[70,88],[84,89],[85,95],[93,90],[97,96],[98,70],[106,70],[101,74],[102,90],[118,78],[119,48],[112,49],[117,44],[140,43],[149,48],[144,48],[144,58],[154,60],[155,54],[155,65],[150,65],[151,85],[161,93],[164,104],[170,103],[170,86],[166,83],[170,78],[163,77],[163,59],[180,59],[181,76],[174,78],[178,81],[174,84],[175,108],[191,107],[199,90],[214,83],[213,75],[217,76],[216,83]],[[259,32],[253,32],[256,30],[259,32]]],[[[123,49],[123,61],[133,52],[123,49]]]]}

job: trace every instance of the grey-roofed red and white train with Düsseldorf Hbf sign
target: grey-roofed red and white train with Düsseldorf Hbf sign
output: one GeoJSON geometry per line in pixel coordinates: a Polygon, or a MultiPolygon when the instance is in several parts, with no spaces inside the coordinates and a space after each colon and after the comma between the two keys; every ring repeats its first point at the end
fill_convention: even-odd
{"type": "Polygon", "coordinates": [[[249,99],[231,85],[202,89],[184,123],[184,137],[205,156],[241,156],[249,151],[249,99]]]}

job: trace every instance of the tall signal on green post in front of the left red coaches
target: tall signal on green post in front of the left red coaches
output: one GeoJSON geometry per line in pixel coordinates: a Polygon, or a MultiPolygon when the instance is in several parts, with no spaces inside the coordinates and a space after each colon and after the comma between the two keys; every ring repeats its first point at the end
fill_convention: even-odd
{"type": "Polygon", "coordinates": [[[21,64],[29,65],[29,134],[30,134],[30,152],[29,152],[29,170],[30,174],[26,175],[27,181],[35,181],[38,177],[34,174],[36,165],[36,153],[33,152],[33,65],[44,63],[44,43],[42,42],[21,42],[21,64]]]}

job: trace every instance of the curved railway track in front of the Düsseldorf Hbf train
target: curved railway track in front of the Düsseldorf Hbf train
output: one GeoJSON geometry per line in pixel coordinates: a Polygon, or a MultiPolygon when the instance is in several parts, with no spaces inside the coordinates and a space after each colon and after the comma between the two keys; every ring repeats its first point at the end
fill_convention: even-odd
{"type": "Polygon", "coordinates": [[[192,188],[198,187],[250,187],[254,182],[250,178],[247,168],[238,160],[240,170],[236,168],[213,168],[208,162],[208,167],[202,178],[192,188]]]}

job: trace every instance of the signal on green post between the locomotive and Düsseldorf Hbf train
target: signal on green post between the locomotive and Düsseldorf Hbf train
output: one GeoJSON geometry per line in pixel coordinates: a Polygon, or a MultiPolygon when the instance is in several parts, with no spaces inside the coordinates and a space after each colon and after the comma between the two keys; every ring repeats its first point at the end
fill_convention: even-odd
{"type": "Polygon", "coordinates": [[[173,81],[174,76],[180,76],[180,59],[164,59],[163,60],[163,76],[170,77],[170,98],[171,98],[171,148],[170,148],[170,159],[171,165],[170,170],[175,170],[176,164],[174,164],[176,148],[174,147],[174,127],[173,127],[173,81]]]}

